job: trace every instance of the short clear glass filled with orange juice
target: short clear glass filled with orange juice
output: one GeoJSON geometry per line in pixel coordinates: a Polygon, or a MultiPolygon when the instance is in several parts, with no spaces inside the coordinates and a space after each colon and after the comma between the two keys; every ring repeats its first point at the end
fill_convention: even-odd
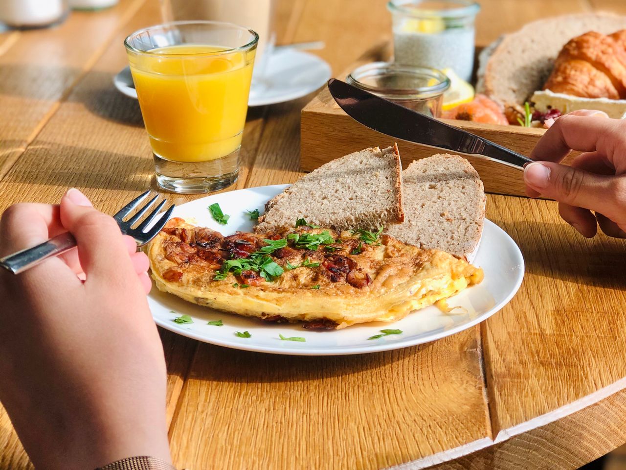
{"type": "Polygon", "coordinates": [[[197,194],[233,184],[259,36],[217,21],[175,21],[126,38],[156,181],[197,194]]]}

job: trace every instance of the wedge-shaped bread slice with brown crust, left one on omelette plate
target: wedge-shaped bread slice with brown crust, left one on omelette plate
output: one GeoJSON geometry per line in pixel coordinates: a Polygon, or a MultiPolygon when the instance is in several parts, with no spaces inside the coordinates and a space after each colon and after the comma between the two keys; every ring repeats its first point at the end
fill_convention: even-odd
{"type": "Polygon", "coordinates": [[[297,219],[339,230],[372,230],[404,220],[398,145],[365,149],[313,170],[265,204],[255,232],[297,219]]]}

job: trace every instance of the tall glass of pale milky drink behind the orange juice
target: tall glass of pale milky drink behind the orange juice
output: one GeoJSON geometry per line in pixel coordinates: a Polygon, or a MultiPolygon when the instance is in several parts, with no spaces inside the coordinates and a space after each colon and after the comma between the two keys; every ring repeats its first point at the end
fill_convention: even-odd
{"type": "Polygon", "coordinates": [[[209,20],[237,23],[259,34],[252,86],[264,86],[275,43],[275,0],[161,0],[164,21],[209,20]]]}

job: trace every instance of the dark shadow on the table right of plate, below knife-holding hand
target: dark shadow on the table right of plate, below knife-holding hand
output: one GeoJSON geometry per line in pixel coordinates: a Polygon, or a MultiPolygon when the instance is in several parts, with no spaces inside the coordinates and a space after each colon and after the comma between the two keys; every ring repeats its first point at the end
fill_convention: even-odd
{"type": "Polygon", "coordinates": [[[626,240],[604,234],[583,238],[565,222],[493,222],[520,246],[527,273],[590,286],[626,288],[626,240]]]}

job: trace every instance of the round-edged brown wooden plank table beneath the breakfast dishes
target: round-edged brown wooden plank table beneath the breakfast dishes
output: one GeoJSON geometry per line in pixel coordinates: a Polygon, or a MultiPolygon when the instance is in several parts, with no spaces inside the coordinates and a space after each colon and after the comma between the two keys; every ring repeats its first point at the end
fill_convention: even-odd
{"type": "MultiPolygon", "coordinates": [[[[479,44],[541,16],[626,13],[621,0],[481,3],[479,44]]],[[[279,18],[280,43],[326,41],[319,55],[336,73],[391,22],[383,0],[284,0],[279,18]]],[[[139,107],[111,77],[126,65],[126,34],[158,21],[155,0],[121,0],[58,28],[0,33],[0,210],[57,202],[75,186],[113,212],[153,184],[139,107]]],[[[309,99],[250,110],[237,188],[299,177],[299,112],[309,99]]],[[[525,281],[498,314],[443,340],[286,357],[162,331],[175,464],[570,469],[626,442],[626,243],[583,239],[554,202],[489,196],[487,215],[520,245],[525,281]]],[[[26,468],[0,410],[0,470],[26,468]]]]}

